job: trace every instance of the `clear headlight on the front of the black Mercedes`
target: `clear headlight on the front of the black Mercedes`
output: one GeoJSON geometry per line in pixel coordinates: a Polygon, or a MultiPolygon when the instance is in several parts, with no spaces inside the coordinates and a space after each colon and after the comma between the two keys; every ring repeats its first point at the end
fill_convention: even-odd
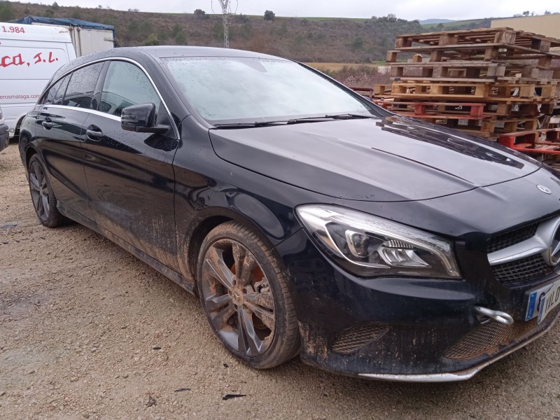
{"type": "Polygon", "coordinates": [[[311,236],[358,276],[460,278],[445,239],[343,207],[312,204],[296,211],[311,236]]]}

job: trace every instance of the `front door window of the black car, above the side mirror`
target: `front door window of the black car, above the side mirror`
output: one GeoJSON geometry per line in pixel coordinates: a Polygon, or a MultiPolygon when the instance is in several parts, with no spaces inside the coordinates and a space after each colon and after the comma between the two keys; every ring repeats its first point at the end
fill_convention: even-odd
{"type": "Polygon", "coordinates": [[[137,104],[155,104],[160,97],[144,71],[132,63],[113,61],[105,76],[99,111],[120,117],[123,109],[137,104]]]}

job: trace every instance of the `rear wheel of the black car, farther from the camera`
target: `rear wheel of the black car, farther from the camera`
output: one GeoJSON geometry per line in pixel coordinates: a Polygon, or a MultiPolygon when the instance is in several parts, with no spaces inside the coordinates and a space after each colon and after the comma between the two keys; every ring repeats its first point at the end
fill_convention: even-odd
{"type": "Polygon", "coordinates": [[[29,159],[29,191],[39,221],[48,228],[57,228],[66,220],[57,209],[57,198],[43,162],[37,155],[29,159]]]}

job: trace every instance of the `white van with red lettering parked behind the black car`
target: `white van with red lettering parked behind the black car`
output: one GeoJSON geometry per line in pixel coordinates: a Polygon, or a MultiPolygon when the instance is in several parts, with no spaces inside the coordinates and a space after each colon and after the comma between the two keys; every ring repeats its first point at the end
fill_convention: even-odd
{"type": "Polygon", "coordinates": [[[52,74],[74,58],[68,29],[0,22],[0,106],[10,138],[52,74]]]}

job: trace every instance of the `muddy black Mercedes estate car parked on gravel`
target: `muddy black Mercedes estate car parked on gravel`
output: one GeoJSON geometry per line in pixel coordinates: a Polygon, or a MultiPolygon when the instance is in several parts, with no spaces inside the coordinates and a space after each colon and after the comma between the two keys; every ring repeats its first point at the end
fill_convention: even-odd
{"type": "Polygon", "coordinates": [[[200,295],[253,367],[468,379],[559,314],[555,172],[288,59],[80,57],[20,153],[43,225],[78,221],[200,295]]]}

